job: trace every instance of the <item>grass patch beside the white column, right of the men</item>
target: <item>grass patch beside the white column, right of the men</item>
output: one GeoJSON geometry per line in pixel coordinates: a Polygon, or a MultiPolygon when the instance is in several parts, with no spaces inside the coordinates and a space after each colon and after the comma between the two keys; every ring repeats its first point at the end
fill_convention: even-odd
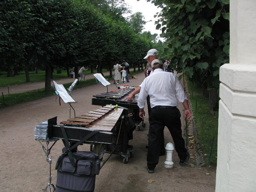
{"type": "Polygon", "coordinates": [[[197,133],[200,138],[200,145],[206,154],[206,164],[208,164],[209,155],[212,147],[212,139],[215,136],[211,163],[217,164],[217,138],[218,138],[218,114],[212,115],[209,110],[209,99],[202,96],[203,89],[197,87],[191,81],[188,82],[188,91],[190,101],[193,106],[193,115],[195,116],[197,133]]]}

